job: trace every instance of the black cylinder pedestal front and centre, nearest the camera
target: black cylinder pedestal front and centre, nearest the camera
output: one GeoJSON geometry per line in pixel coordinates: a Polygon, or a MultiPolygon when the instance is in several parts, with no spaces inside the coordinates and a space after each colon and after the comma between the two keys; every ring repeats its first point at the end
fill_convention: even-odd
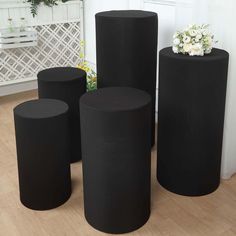
{"type": "Polygon", "coordinates": [[[127,233],[150,215],[151,97],[103,88],[80,100],[85,217],[106,233],[127,233]]]}

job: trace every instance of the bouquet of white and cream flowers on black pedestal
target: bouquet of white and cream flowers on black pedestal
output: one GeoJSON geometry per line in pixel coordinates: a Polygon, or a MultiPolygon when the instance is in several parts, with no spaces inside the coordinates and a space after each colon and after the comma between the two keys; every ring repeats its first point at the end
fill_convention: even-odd
{"type": "Polygon", "coordinates": [[[190,56],[204,56],[212,51],[214,35],[209,25],[189,25],[184,31],[177,31],[173,36],[173,52],[190,56]]]}

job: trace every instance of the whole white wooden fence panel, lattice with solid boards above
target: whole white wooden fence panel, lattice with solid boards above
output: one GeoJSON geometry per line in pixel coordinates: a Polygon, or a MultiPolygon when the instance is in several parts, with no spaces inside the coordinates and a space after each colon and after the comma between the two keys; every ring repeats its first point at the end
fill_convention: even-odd
{"type": "MultiPolygon", "coordinates": [[[[83,40],[83,2],[69,1],[49,8],[41,6],[38,16],[32,17],[28,4],[1,3],[0,28],[7,27],[7,19],[20,26],[20,18],[38,32],[38,45],[16,49],[0,49],[0,96],[13,93],[7,86],[20,86],[36,79],[45,68],[75,66],[80,62],[83,40]]],[[[32,86],[31,86],[32,87],[32,86]]],[[[16,89],[17,90],[17,89],[16,89]]]]}

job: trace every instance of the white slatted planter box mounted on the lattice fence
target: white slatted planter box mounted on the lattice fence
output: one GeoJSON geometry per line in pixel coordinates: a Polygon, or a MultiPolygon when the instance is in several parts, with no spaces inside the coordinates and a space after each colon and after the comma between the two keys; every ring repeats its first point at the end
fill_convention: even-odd
{"type": "Polygon", "coordinates": [[[37,45],[37,31],[33,28],[0,30],[0,49],[32,47],[37,45]]]}

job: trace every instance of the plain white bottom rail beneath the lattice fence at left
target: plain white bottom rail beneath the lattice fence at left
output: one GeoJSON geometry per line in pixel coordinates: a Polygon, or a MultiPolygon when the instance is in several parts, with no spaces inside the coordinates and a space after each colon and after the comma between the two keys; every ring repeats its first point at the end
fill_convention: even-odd
{"type": "Polygon", "coordinates": [[[0,85],[0,96],[6,96],[14,93],[25,92],[37,89],[36,78],[28,78],[19,82],[7,82],[0,85]]]}

